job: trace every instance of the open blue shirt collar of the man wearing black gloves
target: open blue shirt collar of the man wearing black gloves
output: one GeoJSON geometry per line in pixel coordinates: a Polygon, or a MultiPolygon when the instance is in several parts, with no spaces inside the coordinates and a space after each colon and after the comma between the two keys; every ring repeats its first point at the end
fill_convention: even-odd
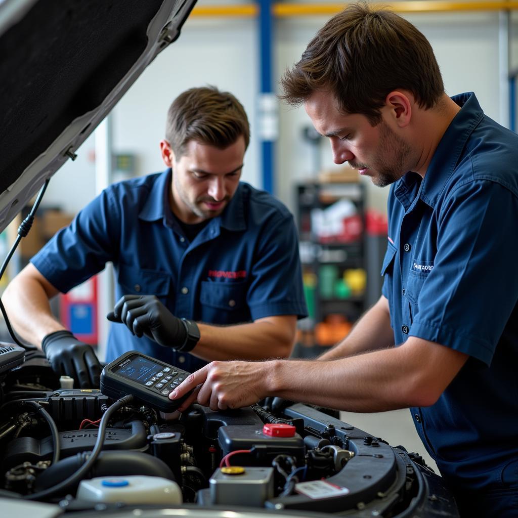
{"type": "MultiPolygon", "coordinates": [[[[146,203],[140,210],[138,217],[144,221],[156,221],[163,219],[164,225],[174,226],[174,217],[169,207],[169,189],[172,180],[171,168],[166,169],[153,183],[146,203]]],[[[239,182],[238,188],[223,213],[213,218],[209,223],[211,227],[222,226],[231,231],[246,229],[243,209],[243,183],[239,182]]]]}

